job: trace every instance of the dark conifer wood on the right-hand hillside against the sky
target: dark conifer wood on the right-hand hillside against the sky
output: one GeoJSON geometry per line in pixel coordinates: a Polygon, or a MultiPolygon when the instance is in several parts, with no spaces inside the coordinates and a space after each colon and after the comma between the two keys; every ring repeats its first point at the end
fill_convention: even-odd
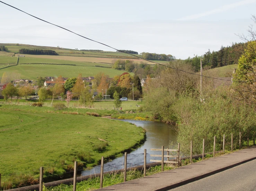
{"type": "Polygon", "coordinates": [[[205,52],[202,56],[188,57],[185,62],[190,63],[195,71],[200,70],[200,59],[202,58],[203,67],[222,67],[231,64],[237,64],[242,52],[246,47],[246,43],[233,43],[232,46],[221,46],[218,51],[205,52]]]}

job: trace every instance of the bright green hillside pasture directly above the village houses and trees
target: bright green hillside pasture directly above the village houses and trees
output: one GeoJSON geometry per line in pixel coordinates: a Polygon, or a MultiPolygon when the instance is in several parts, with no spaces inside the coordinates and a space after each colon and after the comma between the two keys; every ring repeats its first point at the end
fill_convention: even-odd
{"type": "MultiPolygon", "coordinates": [[[[86,63],[90,64],[90,63],[86,63]]],[[[84,77],[95,76],[99,72],[104,72],[109,77],[121,75],[124,71],[115,70],[112,68],[102,68],[95,66],[69,66],[69,65],[51,65],[51,64],[18,64],[9,68],[0,70],[0,77],[3,72],[15,72],[20,74],[20,78],[26,78],[30,80],[36,80],[38,76],[62,76],[67,78],[77,77],[78,74],[82,74],[84,77]]]]}

